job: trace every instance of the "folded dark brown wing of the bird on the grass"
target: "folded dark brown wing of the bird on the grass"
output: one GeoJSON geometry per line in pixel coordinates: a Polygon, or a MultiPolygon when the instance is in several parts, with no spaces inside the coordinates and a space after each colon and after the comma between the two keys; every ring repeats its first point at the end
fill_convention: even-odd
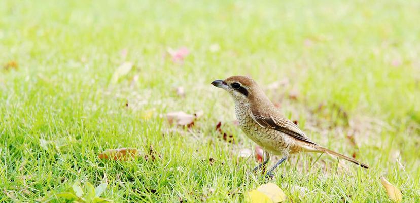
{"type": "Polygon", "coordinates": [[[292,121],[287,118],[273,118],[272,116],[262,115],[259,112],[251,111],[251,118],[263,128],[272,128],[292,136],[298,140],[317,145],[312,142],[305,133],[298,128],[292,121]]]}

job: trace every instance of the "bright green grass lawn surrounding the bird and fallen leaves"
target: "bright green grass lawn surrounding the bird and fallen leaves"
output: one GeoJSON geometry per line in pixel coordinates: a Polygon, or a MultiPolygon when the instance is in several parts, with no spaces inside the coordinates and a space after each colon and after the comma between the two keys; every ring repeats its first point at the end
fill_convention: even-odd
{"type": "Polygon", "coordinates": [[[254,158],[238,160],[254,144],[233,124],[228,94],[209,84],[240,74],[264,87],[287,78],[266,89],[282,112],[315,142],[371,166],[292,156],[274,180],[288,202],[389,202],[380,176],[404,202],[418,202],[419,9],[418,1],[1,1],[0,64],[18,68],[0,71],[0,201],[33,202],[105,176],[102,197],[116,202],[243,201],[265,180],[249,172],[254,158]],[[174,63],[168,47],[190,54],[174,63]],[[125,61],[133,69],[110,83],[125,61]],[[190,130],[160,116],[198,110],[190,130]],[[235,144],[220,139],[219,121],[235,144]],[[97,158],[150,145],[161,158],[97,158]]]}

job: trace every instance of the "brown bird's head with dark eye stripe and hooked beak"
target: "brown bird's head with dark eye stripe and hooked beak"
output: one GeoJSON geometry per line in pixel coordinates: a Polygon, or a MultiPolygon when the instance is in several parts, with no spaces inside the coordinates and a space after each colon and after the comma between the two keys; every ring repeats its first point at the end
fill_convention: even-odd
{"type": "Polygon", "coordinates": [[[247,76],[231,76],[225,80],[215,80],[212,85],[229,92],[235,102],[249,103],[251,99],[261,94],[257,83],[247,76]]]}

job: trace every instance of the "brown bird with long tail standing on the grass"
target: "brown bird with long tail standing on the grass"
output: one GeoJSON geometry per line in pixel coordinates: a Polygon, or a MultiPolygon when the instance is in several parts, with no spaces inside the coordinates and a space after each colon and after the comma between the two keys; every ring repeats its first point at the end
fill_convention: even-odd
{"type": "Polygon", "coordinates": [[[290,154],[299,152],[327,153],[369,168],[367,164],[322,147],[309,139],[295,123],[282,115],[252,78],[231,76],[225,80],[215,80],[212,85],[229,92],[235,103],[239,127],[264,150],[264,161],[255,167],[254,171],[260,168],[265,171],[270,155],[278,155],[281,159],[266,173],[267,176],[273,177],[273,171],[278,165],[290,154]]]}

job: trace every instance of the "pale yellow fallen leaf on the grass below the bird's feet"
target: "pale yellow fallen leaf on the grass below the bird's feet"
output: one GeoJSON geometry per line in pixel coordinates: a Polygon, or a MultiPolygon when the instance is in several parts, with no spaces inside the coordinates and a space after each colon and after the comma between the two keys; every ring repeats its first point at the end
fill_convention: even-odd
{"type": "Polygon", "coordinates": [[[286,195],[280,187],[274,183],[261,185],[257,190],[251,190],[247,193],[248,200],[252,203],[257,202],[283,202],[286,195]]]}

